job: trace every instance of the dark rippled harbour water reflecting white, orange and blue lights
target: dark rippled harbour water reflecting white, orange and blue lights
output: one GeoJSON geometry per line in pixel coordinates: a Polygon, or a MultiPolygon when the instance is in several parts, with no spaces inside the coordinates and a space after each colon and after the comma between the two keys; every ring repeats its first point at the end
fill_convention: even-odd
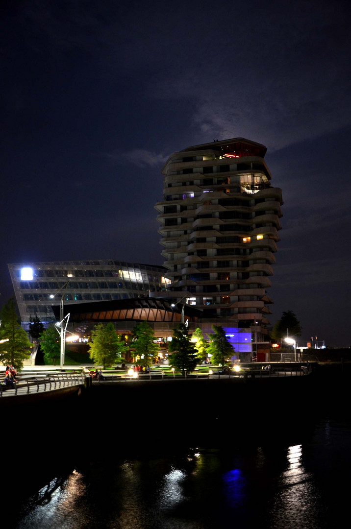
{"type": "MultiPolygon", "coordinates": [[[[44,448],[32,454],[37,471],[28,467],[26,486],[22,477],[22,489],[19,481],[8,482],[12,522],[21,529],[348,525],[349,417],[322,414],[297,430],[292,418],[282,435],[279,428],[268,434],[269,418],[263,424],[267,435],[256,440],[249,432],[241,441],[229,422],[226,442],[219,436],[218,443],[210,426],[198,446],[186,444],[186,435],[172,439],[172,427],[155,437],[143,425],[122,448],[128,423],[118,421],[93,437],[52,437],[43,444],[51,443],[56,455],[49,458],[44,448]]],[[[177,423],[173,431],[181,428],[177,423]]]]}

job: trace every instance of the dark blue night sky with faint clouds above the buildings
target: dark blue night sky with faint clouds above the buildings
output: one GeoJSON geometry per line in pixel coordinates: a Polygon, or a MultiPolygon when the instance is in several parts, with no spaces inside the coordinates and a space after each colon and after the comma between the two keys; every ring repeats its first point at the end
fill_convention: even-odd
{"type": "Polygon", "coordinates": [[[351,345],[349,6],[3,2],[0,303],[10,262],[163,264],[163,163],[244,137],[283,190],[271,323],[351,345]]]}

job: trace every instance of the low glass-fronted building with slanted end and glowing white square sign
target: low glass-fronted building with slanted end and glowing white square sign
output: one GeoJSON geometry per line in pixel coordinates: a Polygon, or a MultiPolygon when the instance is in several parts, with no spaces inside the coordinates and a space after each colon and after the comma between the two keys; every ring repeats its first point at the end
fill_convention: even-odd
{"type": "Polygon", "coordinates": [[[23,323],[53,321],[53,305],[147,296],[170,283],[160,266],[125,261],[55,261],[8,265],[23,323]]]}

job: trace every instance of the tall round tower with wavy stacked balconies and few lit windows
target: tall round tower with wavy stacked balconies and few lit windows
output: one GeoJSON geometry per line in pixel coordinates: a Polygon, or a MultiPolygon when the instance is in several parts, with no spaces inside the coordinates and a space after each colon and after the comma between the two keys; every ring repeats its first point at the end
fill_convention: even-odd
{"type": "Polygon", "coordinates": [[[235,138],[175,152],[162,170],[164,199],[155,206],[172,296],[261,339],[283,204],[266,151],[235,138]]]}

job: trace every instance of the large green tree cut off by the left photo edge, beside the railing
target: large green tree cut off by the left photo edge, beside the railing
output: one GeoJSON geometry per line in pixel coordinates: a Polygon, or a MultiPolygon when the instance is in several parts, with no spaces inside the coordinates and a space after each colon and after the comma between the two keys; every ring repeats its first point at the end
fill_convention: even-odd
{"type": "Polygon", "coordinates": [[[16,314],[14,298],[9,299],[3,306],[0,318],[0,340],[3,341],[0,343],[1,361],[4,366],[12,363],[17,371],[21,371],[31,342],[21,327],[20,319],[16,314]]]}

